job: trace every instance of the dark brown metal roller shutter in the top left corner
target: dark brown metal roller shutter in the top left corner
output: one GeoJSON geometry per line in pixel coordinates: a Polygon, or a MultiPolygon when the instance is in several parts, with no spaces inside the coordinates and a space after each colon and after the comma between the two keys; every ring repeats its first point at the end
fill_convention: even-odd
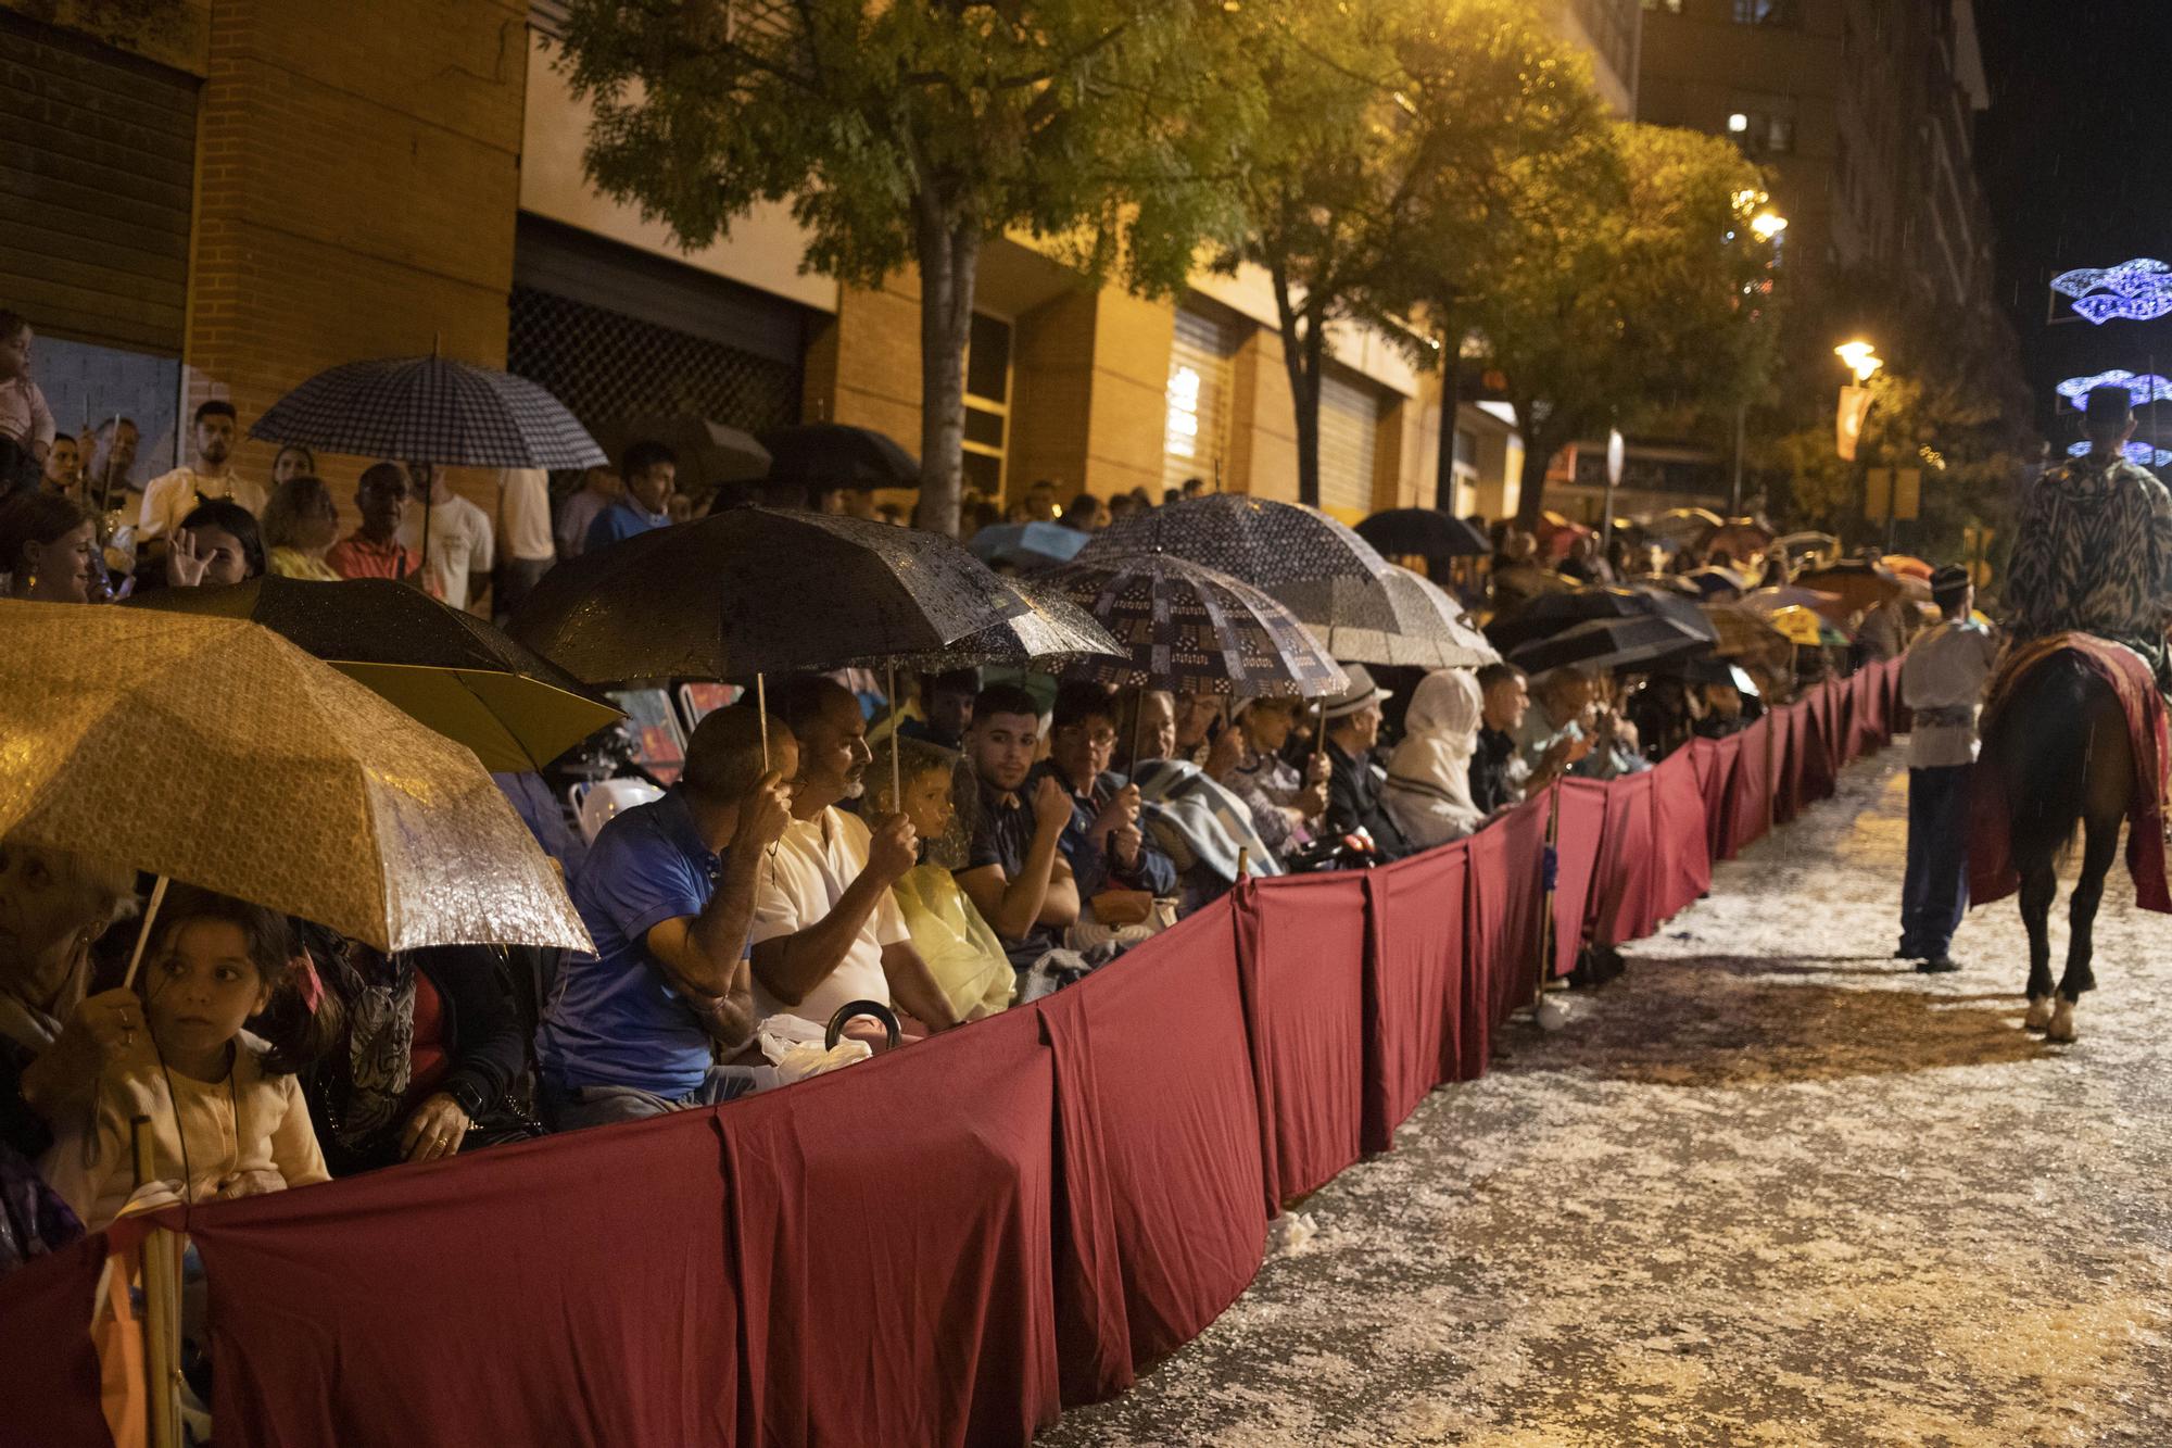
{"type": "Polygon", "coordinates": [[[0,11],[0,298],[39,333],[180,357],[195,93],[0,11]]]}

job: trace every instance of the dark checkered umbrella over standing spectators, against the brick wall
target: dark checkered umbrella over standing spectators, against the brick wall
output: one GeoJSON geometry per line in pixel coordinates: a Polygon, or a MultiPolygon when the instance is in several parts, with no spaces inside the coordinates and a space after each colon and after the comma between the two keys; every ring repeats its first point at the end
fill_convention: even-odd
{"type": "Polygon", "coordinates": [[[450,357],[384,357],[319,372],[250,437],[454,467],[602,467],[586,428],[523,376],[450,357]]]}

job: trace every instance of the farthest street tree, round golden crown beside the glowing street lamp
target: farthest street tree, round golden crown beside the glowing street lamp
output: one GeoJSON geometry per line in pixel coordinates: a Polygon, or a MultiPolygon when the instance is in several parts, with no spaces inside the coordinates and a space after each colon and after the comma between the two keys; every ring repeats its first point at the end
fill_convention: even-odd
{"type": "Polygon", "coordinates": [[[1638,122],[1614,122],[1609,150],[1523,198],[1470,311],[1523,433],[1525,528],[1568,444],[1731,415],[1772,367],[1772,246],[1748,226],[1757,167],[1718,137],[1638,122]]]}

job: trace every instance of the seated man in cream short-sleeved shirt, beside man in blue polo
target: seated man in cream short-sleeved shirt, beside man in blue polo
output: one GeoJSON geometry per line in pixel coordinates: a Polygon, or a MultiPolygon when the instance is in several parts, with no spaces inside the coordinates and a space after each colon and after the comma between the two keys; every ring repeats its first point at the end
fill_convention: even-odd
{"type": "Polygon", "coordinates": [[[799,737],[793,824],[762,872],[754,909],[754,1015],[828,1024],[851,1000],[899,1009],[908,1031],[960,1024],[912,948],[891,887],[919,863],[904,815],[836,809],[858,798],[869,765],[860,700],[830,678],[791,678],[771,709],[799,737]]]}

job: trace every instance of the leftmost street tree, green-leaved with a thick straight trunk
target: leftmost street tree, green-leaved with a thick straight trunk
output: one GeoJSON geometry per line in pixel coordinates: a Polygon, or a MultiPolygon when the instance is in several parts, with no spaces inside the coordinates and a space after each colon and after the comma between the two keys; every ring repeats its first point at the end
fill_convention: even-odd
{"type": "Polygon", "coordinates": [[[982,246],[1030,233],[1084,278],[1182,285],[1232,235],[1251,93],[1205,0],[573,0],[586,170],[686,248],[788,202],[801,261],[921,283],[923,528],[958,530],[982,246]]]}

